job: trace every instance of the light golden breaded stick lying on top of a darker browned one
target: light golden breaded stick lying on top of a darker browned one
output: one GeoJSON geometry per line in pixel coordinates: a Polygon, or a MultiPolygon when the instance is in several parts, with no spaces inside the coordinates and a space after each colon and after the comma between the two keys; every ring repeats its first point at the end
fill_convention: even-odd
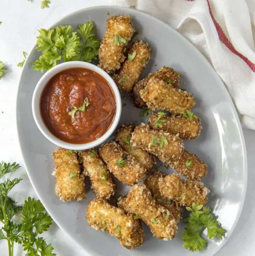
{"type": "Polygon", "coordinates": [[[179,114],[183,110],[191,110],[195,105],[191,93],[170,87],[158,78],[151,78],[146,87],[140,90],[140,96],[150,109],[167,110],[174,114],[179,114]]]}

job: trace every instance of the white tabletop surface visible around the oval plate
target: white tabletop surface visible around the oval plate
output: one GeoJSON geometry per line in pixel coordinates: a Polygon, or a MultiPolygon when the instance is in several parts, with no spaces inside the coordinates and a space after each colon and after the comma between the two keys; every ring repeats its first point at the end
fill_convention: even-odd
{"type": "MultiPolygon", "coordinates": [[[[29,53],[36,42],[37,30],[49,28],[61,17],[81,8],[115,4],[115,0],[52,0],[50,8],[40,9],[41,0],[5,0],[0,7],[0,60],[7,67],[0,80],[0,161],[23,165],[16,131],[16,95],[23,59],[22,51],[29,53]]],[[[248,155],[248,187],[243,212],[235,231],[216,256],[254,255],[255,237],[255,131],[244,130],[248,155]],[[241,246],[240,246],[241,245],[241,246]]],[[[16,174],[23,178],[11,196],[22,202],[28,196],[36,197],[24,168],[16,174]]],[[[61,256],[84,255],[84,251],[53,223],[45,238],[61,256]]],[[[8,255],[7,244],[0,241],[0,256],[8,255]]],[[[22,247],[15,247],[15,255],[22,255],[22,247]]]]}

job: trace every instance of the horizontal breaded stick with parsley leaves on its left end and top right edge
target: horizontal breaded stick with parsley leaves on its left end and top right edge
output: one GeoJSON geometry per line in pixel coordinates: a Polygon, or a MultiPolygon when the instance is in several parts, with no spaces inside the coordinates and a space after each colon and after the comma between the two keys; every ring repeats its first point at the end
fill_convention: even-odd
{"type": "Polygon", "coordinates": [[[157,124],[158,114],[152,113],[148,117],[148,125],[151,129],[159,131],[169,132],[170,134],[179,134],[179,137],[183,140],[194,140],[200,135],[202,129],[201,120],[195,119],[189,120],[188,118],[181,115],[164,115],[161,120],[161,126],[155,126],[157,124]],[[157,127],[157,128],[156,128],[157,127]]]}

